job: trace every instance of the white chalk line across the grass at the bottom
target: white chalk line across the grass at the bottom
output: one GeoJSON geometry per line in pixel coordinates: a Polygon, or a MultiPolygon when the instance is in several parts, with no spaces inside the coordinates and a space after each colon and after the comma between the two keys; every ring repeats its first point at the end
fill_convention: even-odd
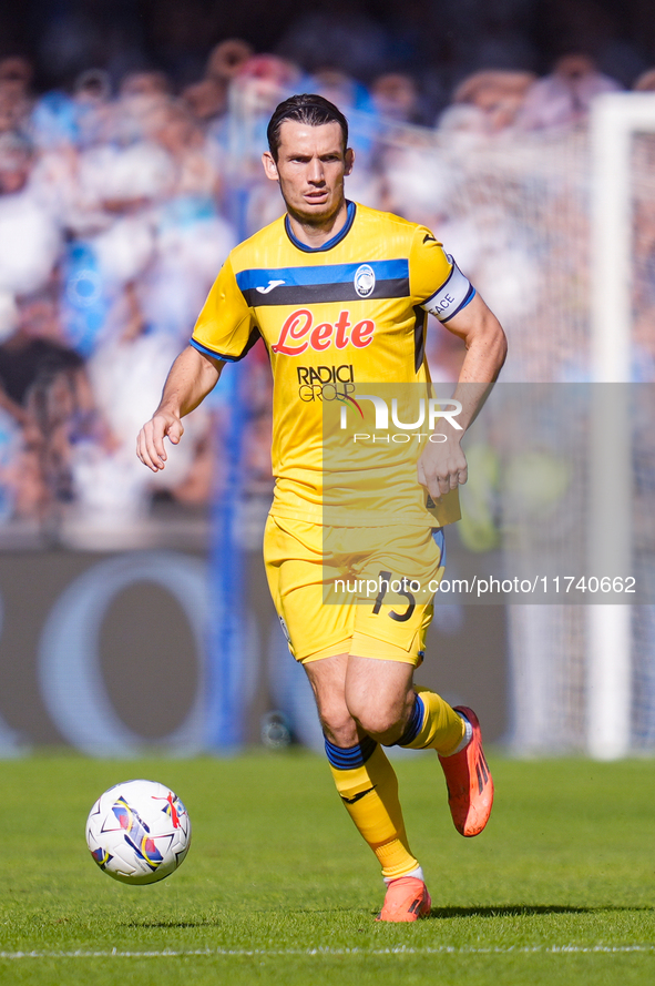
{"type": "Polygon", "coordinates": [[[285,958],[313,956],[371,956],[371,955],[620,955],[626,953],[655,953],[655,945],[508,945],[493,947],[438,945],[413,948],[399,945],[393,948],[198,948],[163,949],[161,952],[127,952],[112,948],[104,952],[0,952],[0,959],[21,958],[185,958],[191,956],[234,958],[285,958]]]}

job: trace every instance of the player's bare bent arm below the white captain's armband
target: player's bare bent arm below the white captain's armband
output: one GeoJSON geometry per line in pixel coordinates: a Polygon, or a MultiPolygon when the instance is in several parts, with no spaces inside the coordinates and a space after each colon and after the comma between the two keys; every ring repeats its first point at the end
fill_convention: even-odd
{"type": "Polygon", "coordinates": [[[446,435],[447,440],[428,444],[419,459],[419,482],[433,499],[467,481],[467,459],[460,443],[484,404],[508,352],[500,322],[478,294],[444,324],[463,340],[467,355],[453,394],[453,398],[462,405],[456,417],[461,429],[457,429],[448,418],[441,419],[438,430],[446,435]]]}

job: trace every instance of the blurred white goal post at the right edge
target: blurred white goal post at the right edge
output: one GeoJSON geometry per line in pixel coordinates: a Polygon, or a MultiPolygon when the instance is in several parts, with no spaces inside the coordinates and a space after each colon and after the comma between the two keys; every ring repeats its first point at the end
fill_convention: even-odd
{"type": "MultiPolygon", "coordinates": [[[[655,132],[655,93],[610,93],[591,121],[592,380],[627,384],[632,376],[633,207],[635,133],[655,132]]],[[[595,388],[601,389],[601,388],[595,388]]],[[[590,445],[590,575],[630,575],[633,565],[632,445],[627,387],[610,408],[593,408],[590,445]],[[610,467],[610,468],[608,468],[610,467]],[[612,538],[600,538],[612,489],[612,538]],[[611,542],[611,543],[610,543],[611,542]]],[[[593,399],[593,398],[592,398],[593,399]]],[[[625,756],[631,746],[632,607],[587,607],[587,752],[625,756]]]]}

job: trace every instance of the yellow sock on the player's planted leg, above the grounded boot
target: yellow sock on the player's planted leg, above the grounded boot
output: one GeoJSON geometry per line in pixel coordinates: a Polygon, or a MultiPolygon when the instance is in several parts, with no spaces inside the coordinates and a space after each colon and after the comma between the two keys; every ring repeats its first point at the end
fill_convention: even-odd
{"type": "MultiPolygon", "coordinates": [[[[372,744],[372,740],[367,736],[364,744],[372,744]]],[[[411,873],[419,864],[407,842],[398,800],[398,780],[381,746],[376,743],[365,763],[347,770],[335,766],[331,760],[330,770],[337,791],[360,834],[378,857],[382,876],[395,880],[411,873]]]]}

